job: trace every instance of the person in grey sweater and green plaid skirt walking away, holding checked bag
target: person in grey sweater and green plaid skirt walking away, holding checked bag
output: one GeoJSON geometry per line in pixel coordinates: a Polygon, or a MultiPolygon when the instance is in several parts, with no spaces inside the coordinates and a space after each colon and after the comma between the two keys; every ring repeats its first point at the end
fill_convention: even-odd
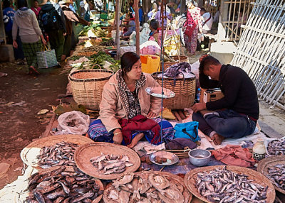
{"type": "Polygon", "coordinates": [[[42,43],[46,45],[46,40],[43,38],[41,29],[38,26],[36,14],[31,9],[28,9],[26,0],[18,0],[18,10],[14,16],[12,28],[13,46],[18,48],[16,37],[19,28],[19,35],[23,44],[24,56],[28,64],[28,74],[39,74],[37,67],[36,53],[41,51],[42,43]]]}

